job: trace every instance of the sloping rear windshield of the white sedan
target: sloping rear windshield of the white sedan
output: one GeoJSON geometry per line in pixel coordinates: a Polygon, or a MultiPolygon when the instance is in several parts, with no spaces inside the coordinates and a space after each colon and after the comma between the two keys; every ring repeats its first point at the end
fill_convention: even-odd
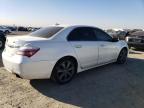
{"type": "Polygon", "coordinates": [[[63,29],[63,27],[47,27],[47,28],[42,28],[40,30],[32,32],[30,34],[30,36],[42,37],[42,38],[50,38],[53,35],[55,35],[57,32],[59,32],[61,29],[63,29]]]}

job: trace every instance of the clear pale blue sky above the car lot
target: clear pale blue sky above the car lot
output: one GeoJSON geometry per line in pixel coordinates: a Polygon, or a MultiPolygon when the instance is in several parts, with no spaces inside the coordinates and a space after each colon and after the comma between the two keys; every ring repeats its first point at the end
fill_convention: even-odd
{"type": "Polygon", "coordinates": [[[144,0],[0,0],[0,24],[144,29],[144,0]]]}

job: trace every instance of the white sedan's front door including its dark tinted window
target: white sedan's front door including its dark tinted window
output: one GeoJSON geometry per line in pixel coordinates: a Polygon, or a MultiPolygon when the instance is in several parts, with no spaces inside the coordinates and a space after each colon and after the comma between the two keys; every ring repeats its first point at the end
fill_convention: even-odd
{"type": "Polygon", "coordinates": [[[95,29],[96,40],[99,46],[98,64],[105,64],[117,59],[117,42],[113,42],[112,37],[100,29],[95,29]]]}

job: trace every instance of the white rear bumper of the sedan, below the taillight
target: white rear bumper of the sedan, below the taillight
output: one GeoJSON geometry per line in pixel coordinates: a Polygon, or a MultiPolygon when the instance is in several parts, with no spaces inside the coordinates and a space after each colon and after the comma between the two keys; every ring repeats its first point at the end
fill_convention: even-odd
{"type": "Polygon", "coordinates": [[[55,65],[54,61],[16,62],[15,57],[9,57],[5,53],[2,54],[2,59],[6,70],[24,79],[50,78],[55,65]]]}

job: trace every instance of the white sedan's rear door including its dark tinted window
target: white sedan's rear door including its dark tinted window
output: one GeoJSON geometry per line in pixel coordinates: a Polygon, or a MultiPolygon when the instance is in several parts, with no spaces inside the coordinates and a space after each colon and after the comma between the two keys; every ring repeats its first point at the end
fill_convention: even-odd
{"type": "Polygon", "coordinates": [[[74,48],[81,68],[89,68],[98,63],[98,45],[93,28],[80,27],[74,29],[68,36],[68,41],[74,48]]]}

